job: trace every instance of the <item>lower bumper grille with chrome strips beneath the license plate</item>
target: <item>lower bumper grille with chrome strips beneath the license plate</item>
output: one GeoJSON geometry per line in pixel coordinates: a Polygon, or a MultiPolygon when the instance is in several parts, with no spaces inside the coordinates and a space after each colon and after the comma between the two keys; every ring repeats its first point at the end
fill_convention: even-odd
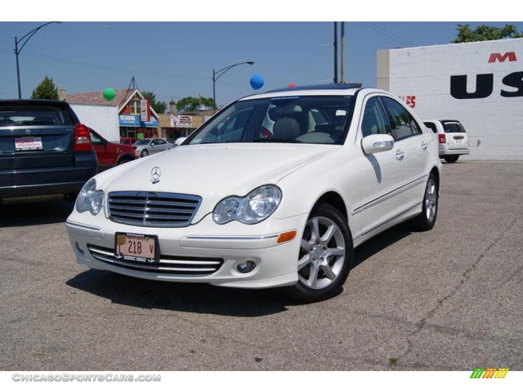
{"type": "Polygon", "coordinates": [[[96,260],[130,270],[155,272],[170,275],[209,275],[220,269],[223,259],[218,257],[187,257],[161,255],[154,264],[128,262],[117,259],[113,249],[87,244],[87,249],[96,260]]]}

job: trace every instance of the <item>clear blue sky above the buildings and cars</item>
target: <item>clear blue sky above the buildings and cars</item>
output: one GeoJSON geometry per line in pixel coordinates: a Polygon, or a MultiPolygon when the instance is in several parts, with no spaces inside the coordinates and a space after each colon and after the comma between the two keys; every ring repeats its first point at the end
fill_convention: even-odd
{"type": "MultiPolygon", "coordinates": [[[[17,94],[14,37],[41,23],[0,22],[0,99],[17,94]]],[[[346,80],[375,86],[377,50],[448,43],[458,23],[466,22],[346,22],[346,80]]],[[[70,93],[126,88],[134,75],[160,100],[212,96],[213,68],[254,61],[218,80],[222,105],[252,93],[255,73],[265,78],[260,91],[332,80],[332,41],[332,22],[64,22],[44,27],[20,54],[22,97],[44,75],[70,93]]]]}

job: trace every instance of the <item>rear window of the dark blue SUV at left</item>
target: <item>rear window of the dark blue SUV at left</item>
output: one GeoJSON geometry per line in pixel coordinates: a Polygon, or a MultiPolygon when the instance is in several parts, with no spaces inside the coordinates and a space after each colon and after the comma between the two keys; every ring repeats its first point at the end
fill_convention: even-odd
{"type": "Polygon", "coordinates": [[[72,125],[69,112],[51,105],[0,105],[0,126],[72,125]]]}

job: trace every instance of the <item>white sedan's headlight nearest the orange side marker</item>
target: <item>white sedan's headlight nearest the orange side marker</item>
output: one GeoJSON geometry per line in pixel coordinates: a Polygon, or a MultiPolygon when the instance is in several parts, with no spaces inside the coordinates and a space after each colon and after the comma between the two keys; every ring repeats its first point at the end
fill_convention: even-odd
{"type": "Polygon", "coordinates": [[[232,196],[223,199],[214,207],[212,218],[220,225],[231,221],[252,225],[272,214],[280,204],[280,200],[280,188],[275,185],[264,185],[243,198],[232,196]]]}

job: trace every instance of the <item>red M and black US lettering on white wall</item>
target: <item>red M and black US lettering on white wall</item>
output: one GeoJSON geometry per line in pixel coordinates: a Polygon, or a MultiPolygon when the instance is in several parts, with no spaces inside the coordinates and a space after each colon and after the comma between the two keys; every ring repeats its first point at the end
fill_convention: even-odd
{"type": "MultiPolygon", "coordinates": [[[[517,61],[516,52],[491,53],[488,57],[488,63],[504,63],[508,61],[517,61]]],[[[503,85],[513,88],[511,91],[502,89],[502,97],[523,97],[523,71],[512,72],[506,75],[503,85]],[[514,91],[514,89],[516,89],[514,91]]],[[[456,99],[477,99],[486,98],[492,95],[494,91],[494,74],[477,74],[476,89],[472,93],[467,91],[467,75],[450,76],[450,95],[456,99]]]]}

